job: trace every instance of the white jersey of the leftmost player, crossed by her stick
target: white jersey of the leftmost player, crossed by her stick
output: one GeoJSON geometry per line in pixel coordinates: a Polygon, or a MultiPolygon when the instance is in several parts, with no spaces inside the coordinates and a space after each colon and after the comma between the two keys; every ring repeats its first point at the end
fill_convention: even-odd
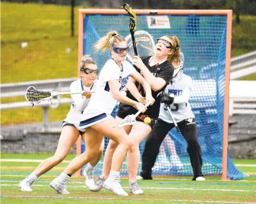
{"type": "MultiPolygon", "coordinates": [[[[93,83],[90,87],[85,87],[83,84],[83,80],[78,79],[72,82],[72,84],[70,85],[70,92],[81,91],[82,93],[84,90],[94,91],[95,90],[94,84],[95,83],[93,83]]],[[[71,97],[73,99],[73,104],[70,106],[70,111],[67,114],[66,119],[64,119],[62,125],[66,123],[70,123],[75,125],[76,128],[78,128],[83,111],[87,107],[90,99],[86,99],[86,97],[84,97],[82,94],[72,94],[71,97]]]]}

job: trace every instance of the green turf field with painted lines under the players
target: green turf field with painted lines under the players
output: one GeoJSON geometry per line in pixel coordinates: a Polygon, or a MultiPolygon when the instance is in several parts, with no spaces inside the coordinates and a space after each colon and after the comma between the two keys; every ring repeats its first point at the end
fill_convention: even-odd
{"type": "MultiPolygon", "coordinates": [[[[220,176],[206,176],[205,182],[192,182],[191,177],[158,177],[139,182],[145,192],[143,196],[120,197],[105,189],[99,193],[90,192],[84,187],[83,177],[73,176],[67,185],[71,193],[56,194],[49,182],[67,166],[65,161],[75,157],[69,155],[34,183],[33,192],[19,191],[19,181],[33,171],[38,160],[51,155],[1,154],[1,203],[256,203],[256,160],[243,159],[234,160],[234,163],[251,176],[239,181],[221,181],[220,176]]],[[[121,185],[128,192],[126,178],[121,180],[121,185]]]]}

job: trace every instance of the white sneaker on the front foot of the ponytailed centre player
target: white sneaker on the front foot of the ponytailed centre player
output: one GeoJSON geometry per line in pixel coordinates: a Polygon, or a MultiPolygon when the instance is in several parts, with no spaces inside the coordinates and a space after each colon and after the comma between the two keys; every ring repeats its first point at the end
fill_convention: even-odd
{"type": "Polygon", "coordinates": [[[120,175],[110,175],[103,184],[103,188],[106,188],[109,191],[112,191],[118,196],[128,196],[127,192],[124,191],[120,185],[120,175]]]}

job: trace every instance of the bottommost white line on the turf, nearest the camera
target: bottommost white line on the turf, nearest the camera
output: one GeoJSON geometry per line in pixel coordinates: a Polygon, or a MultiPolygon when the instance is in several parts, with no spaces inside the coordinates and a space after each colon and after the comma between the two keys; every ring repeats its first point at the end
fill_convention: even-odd
{"type": "MultiPolygon", "coordinates": [[[[135,197],[78,197],[78,196],[2,196],[2,199],[8,199],[12,197],[27,198],[27,199],[93,199],[93,200],[154,200],[154,199],[144,199],[135,197]]],[[[156,200],[157,201],[157,200],[156,200]]],[[[237,202],[237,201],[224,201],[224,200],[181,200],[181,199],[171,199],[170,202],[198,202],[198,203],[235,203],[235,204],[255,204],[256,202],[237,202]]]]}

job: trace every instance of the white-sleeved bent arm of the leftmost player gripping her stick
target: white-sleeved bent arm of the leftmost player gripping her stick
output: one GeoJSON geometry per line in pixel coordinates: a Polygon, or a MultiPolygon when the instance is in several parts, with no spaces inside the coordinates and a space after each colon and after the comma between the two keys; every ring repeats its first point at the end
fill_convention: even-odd
{"type": "MultiPolygon", "coordinates": [[[[75,87],[75,83],[70,85],[70,92],[76,92],[77,88],[75,87]]],[[[84,111],[86,109],[89,100],[90,100],[90,91],[84,91],[84,96],[82,94],[72,94],[71,97],[73,102],[75,103],[76,107],[79,111],[84,111]]]]}

